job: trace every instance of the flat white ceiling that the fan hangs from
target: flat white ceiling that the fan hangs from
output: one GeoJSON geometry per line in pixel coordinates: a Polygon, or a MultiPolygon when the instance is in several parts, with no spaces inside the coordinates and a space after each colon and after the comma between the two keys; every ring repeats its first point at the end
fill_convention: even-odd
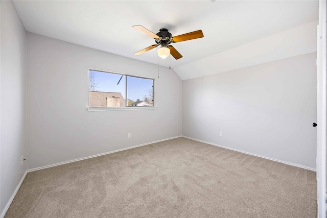
{"type": "Polygon", "coordinates": [[[318,19],[318,1],[13,1],[28,32],[93,49],[179,67],[318,19]],[[173,36],[202,30],[204,38],[174,43],[183,58],[159,59],[142,25],[173,36]]]}

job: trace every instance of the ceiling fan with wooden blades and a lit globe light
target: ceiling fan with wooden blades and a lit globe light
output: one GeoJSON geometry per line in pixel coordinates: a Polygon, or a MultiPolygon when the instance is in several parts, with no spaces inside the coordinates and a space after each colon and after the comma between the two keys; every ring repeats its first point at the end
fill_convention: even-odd
{"type": "Polygon", "coordinates": [[[167,58],[169,54],[171,54],[176,60],[183,57],[177,50],[173,47],[173,45],[170,45],[170,43],[175,42],[182,42],[187,41],[191,39],[198,39],[203,37],[202,30],[197,30],[191,33],[185,33],[178,36],[173,36],[170,32],[168,32],[167,29],[162,28],[159,30],[159,33],[154,34],[150,30],[144,28],[141,25],[133,26],[135,30],[141,31],[142,33],[147,34],[148,36],[154,38],[155,42],[157,44],[150,45],[149,47],[146,47],[145,49],[138,51],[134,53],[134,55],[141,55],[151,49],[154,49],[157,46],[161,46],[158,49],[158,55],[160,58],[167,58]]]}

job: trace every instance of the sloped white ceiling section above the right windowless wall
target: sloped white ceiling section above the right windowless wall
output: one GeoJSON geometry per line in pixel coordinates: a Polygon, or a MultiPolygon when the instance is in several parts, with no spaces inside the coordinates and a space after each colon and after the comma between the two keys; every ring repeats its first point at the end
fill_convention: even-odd
{"type": "Polygon", "coordinates": [[[178,66],[182,80],[217,74],[317,51],[317,24],[313,21],[227,51],[178,66]]]}

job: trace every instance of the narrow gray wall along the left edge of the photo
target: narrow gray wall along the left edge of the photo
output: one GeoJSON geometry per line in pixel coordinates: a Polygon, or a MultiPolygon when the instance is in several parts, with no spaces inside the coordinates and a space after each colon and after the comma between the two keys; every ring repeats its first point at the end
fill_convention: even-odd
{"type": "Polygon", "coordinates": [[[26,32],[11,1],[1,1],[1,214],[27,170],[26,32]]]}

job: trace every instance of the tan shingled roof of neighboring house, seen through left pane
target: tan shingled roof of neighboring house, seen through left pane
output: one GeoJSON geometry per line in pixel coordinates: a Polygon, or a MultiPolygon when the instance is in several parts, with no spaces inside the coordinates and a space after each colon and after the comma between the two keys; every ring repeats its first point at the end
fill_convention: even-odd
{"type": "Polygon", "coordinates": [[[121,92],[88,91],[88,106],[90,108],[107,107],[106,98],[119,98],[116,107],[126,107],[126,101],[121,92]]]}

